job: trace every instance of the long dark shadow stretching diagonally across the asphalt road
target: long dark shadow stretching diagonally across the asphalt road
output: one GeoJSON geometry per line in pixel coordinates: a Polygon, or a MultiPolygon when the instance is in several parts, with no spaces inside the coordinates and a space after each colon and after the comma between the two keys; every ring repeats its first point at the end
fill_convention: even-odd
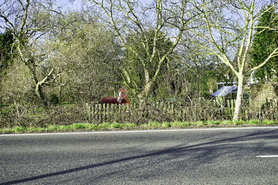
{"type": "MultiPolygon", "coordinates": [[[[185,152],[196,152],[196,150],[202,150],[202,155],[199,155],[197,157],[199,157],[200,159],[204,158],[204,160],[209,160],[208,158],[211,158],[212,156],[215,158],[219,157],[219,156],[214,156],[211,155],[210,152],[213,152],[213,150],[215,150],[215,145],[216,146],[223,146],[224,144],[226,144],[227,142],[236,142],[239,140],[244,140],[244,141],[249,141],[252,139],[277,139],[278,138],[278,134],[277,134],[277,130],[270,130],[270,131],[265,131],[265,132],[254,132],[252,134],[247,134],[244,136],[237,136],[237,137],[231,137],[231,138],[227,138],[227,139],[220,139],[217,141],[209,141],[209,142],[204,142],[204,143],[199,143],[199,144],[195,144],[195,145],[191,145],[191,146],[184,146],[184,145],[179,145],[179,146],[174,146],[171,148],[165,148],[163,150],[156,150],[154,152],[149,152],[145,155],[138,155],[138,156],[133,156],[133,157],[125,157],[122,159],[116,159],[116,160],[112,160],[112,161],[106,161],[106,162],[102,162],[99,164],[92,164],[92,165],[88,165],[88,166],[81,166],[78,168],[72,168],[69,170],[61,170],[58,172],[54,172],[54,173],[47,173],[47,174],[43,174],[43,175],[37,175],[37,176],[33,176],[33,177],[28,177],[28,178],[24,178],[24,179],[17,179],[17,180],[13,180],[13,181],[9,181],[9,182],[3,182],[1,184],[17,184],[17,183],[24,183],[24,182],[31,182],[37,179],[43,179],[43,178],[47,178],[47,177],[54,177],[54,176],[58,176],[58,175],[66,175],[69,173],[76,173],[79,172],[81,170],[88,170],[88,169],[92,169],[92,168],[97,168],[99,166],[108,166],[108,165],[112,165],[112,164],[118,164],[124,161],[131,161],[131,160],[135,160],[135,159],[144,159],[146,157],[156,157],[156,156],[161,156],[161,155],[184,155],[185,152]],[[209,151],[209,152],[208,152],[209,151]],[[208,157],[210,156],[210,157],[208,157]]],[[[240,150],[240,149],[238,149],[240,150]]],[[[275,152],[277,152],[278,150],[275,149],[275,152]]]]}

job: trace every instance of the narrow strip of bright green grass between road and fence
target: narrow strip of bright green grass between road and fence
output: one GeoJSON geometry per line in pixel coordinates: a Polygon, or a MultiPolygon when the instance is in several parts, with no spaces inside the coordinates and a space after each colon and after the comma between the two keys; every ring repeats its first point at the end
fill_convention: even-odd
{"type": "Polygon", "coordinates": [[[97,130],[142,130],[142,129],[177,129],[194,127],[236,127],[236,126],[267,126],[277,125],[276,121],[197,121],[197,122],[163,122],[150,121],[149,123],[136,125],[136,123],[102,123],[99,125],[93,123],[74,123],[72,125],[48,125],[47,127],[11,127],[0,129],[0,134],[8,133],[40,133],[40,132],[82,132],[97,130]]]}

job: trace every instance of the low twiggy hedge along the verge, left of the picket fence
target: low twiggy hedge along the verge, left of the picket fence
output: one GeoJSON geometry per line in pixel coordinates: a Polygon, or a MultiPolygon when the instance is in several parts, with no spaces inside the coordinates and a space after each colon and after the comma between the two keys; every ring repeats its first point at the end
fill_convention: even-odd
{"type": "Polygon", "coordinates": [[[57,105],[49,107],[8,105],[0,107],[0,114],[0,128],[70,125],[72,123],[84,123],[86,116],[82,105],[57,105]]]}

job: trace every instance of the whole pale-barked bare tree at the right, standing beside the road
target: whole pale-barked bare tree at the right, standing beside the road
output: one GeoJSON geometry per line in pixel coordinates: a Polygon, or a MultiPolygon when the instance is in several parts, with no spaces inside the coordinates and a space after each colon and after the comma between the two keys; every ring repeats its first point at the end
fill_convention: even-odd
{"type": "MultiPolygon", "coordinates": [[[[199,44],[199,47],[205,49],[207,55],[216,55],[238,78],[238,91],[236,96],[236,106],[233,120],[240,118],[240,110],[243,100],[243,87],[245,76],[252,71],[263,67],[271,58],[278,55],[278,47],[272,48],[267,53],[265,60],[260,64],[247,69],[247,55],[250,51],[252,39],[258,33],[254,33],[256,28],[265,30],[271,28],[268,26],[258,26],[256,23],[266,12],[277,8],[274,3],[269,8],[256,12],[257,7],[261,5],[255,0],[246,1],[193,1],[193,6],[199,12],[198,29],[193,30],[195,35],[206,41],[206,44],[199,44]],[[241,19],[238,19],[241,18],[241,19]],[[233,66],[231,55],[233,53],[225,52],[232,47],[238,49],[237,65],[233,66]]],[[[261,1],[262,2],[262,1],[261,1]]],[[[260,8],[261,9],[261,8],[260,8]]],[[[198,43],[196,43],[198,44],[198,43]]],[[[229,50],[228,50],[229,51],[229,50]]],[[[235,55],[236,52],[234,52],[235,55]]]]}

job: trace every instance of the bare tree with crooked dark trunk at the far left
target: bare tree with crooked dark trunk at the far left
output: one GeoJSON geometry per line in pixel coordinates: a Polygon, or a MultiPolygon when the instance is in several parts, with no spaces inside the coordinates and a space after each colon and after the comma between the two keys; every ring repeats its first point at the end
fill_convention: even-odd
{"type": "Polygon", "coordinates": [[[38,51],[37,47],[44,35],[59,28],[57,20],[60,15],[60,10],[54,8],[52,0],[5,0],[0,4],[0,21],[4,25],[1,27],[13,34],[17,55],[28,68],[35,94],[44,105],[47,105],[47,100],[42,86],[52,79],[54,69],[44,70],[44,76],[40,77],[38,70],[43,68],[48,51],[38,51]]]}

